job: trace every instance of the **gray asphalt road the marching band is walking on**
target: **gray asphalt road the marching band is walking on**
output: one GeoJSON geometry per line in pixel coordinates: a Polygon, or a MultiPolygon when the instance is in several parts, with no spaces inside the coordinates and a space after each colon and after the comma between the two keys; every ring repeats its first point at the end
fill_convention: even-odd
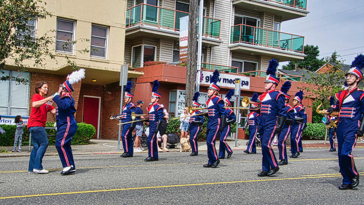
{"type": "MultiPolygon", "coordinates": [[[[337,152],[305,149],[271,177],[257,177],[257,152],[235,150],[216,169],[202,167],[206,151],[159,153],[157,162],[145,162],[147,153],[75,155],[77,171],[68,176],[58,156],[44,157],[49,174],[28,174],[29,157],[0,158],[0,204],[364,204],[364,181],[337,189],[337,152]]],[[[364,180],[364,148],[352,154],[364,180]]]]}

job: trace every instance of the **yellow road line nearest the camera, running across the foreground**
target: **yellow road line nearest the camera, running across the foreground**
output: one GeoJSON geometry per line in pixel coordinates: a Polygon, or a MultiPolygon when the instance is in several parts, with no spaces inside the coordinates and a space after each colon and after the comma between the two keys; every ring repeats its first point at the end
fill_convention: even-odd
{"type": "Polygon", "coordinates": [[[5,198],[24,198],[24,197],[39,197],[39,196],[52,196],[52,195],[63,195],[63,194],[80,194],[80,193],[94,193],[94,192],[113,192],[113,191],[123,191],[123,190],[137,190],[137,189],[157,189],[157,188],[170,188],[170,187],[181,187],[181,186],[201,186],[201,185],[214,185],[214,184],[233,184],[233,183],[246,183],[246,182],[264,182],[264,181],[281,181],[281,180],[300,180],[309,178],[324,178],[324,177],[339,177],[335,176],[316,176],[316,177],[296,177],[296,178],[283,178],[283,179],[269,179],[269,180],[249,180],[249,181],[231,181],[231,182],[213,182],[213,183],[201,183],[201,184],[180,184],[180,185],[168,185],[168,186],[149,186],[149,187],[135,187],[135,188],[123,188],[123,189],[105,189],[105,190],[91,190],[91,191],[81,191],[81,192],[64,192],[64,193],[50,193],[50,194],[34,194],[25,196],[10,196],[10,197],[0,197],[0,199],[5,198]]]}

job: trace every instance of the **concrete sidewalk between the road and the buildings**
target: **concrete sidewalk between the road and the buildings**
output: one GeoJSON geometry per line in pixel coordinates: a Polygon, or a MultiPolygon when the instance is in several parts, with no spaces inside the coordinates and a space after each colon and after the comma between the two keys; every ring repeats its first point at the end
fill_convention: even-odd
{"type": "MultiPolygon", "coordinates": [[[[232,148],[232,150],[245,150],[246,143],[248,142],[247,139],[238,139],[237,146],[235,147],[235,140],[228,139],[227,144],[232,148]]],[[[324,140],[303,140],[303,144],[309,143],[324,143],[324,140]]],[[[364,142],[357,142],[361,143],[359,146],[364,146],[364,142]]],[[[357,145],[358,146],[358,145],[357,145]]],[[[179,145],[177,145],[177,149],[170,149],[170,151],[179,151],[179,145]]],[[[219,141],[216,141],[215,144],[216,149],[219,149],[219,141]]],[[[120,142],[120,149],[118,148],[118,141],[117,140],[110,140],[110,139],[91,139],[90,144],[88,145],[72,145],[72,152],[74,155],[82,155],[82,154],[117,154],[123,153],[123,144],[120,142]]],[[[314,147],[317,148],[317,147],[314,147]]],[[[325,147],[320,148],[330,148],[330,142],[327,140],[325,147]]],[[[11,151],[13,147],[0,147],[1,149],[6,149],[7,151],[11,151]]],[[[260,147],[257,147],[260,149],[260,147]]],[[[278,149],[277,146],[274,146],[273,149],[278,149]]],[[[11,152],[11,153],[0,153],[0,157],[27,157],[30,155],[29,146],[22,146],[22,152],[11,152]]],[[[204,151],[207,150],[206,142],[198,142],[198,150],[204,151]]],[[[145,152],[148,151],[147,148],[144,150],[145,152]]],[[[46,151],[46,156],[49,155],[58,155],[55,146],[48,146],[46,151]]]]}

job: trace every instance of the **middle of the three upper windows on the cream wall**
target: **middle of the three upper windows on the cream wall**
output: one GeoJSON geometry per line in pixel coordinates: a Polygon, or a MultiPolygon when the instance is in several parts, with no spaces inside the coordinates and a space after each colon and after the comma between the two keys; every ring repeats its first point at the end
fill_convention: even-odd
{"type": "Polygon", "coordinates": [[[72,53],[74,24],[74,21],[57,19],[56,51],[72,53]],[[66,42],[68,42],[67,45],[65,45],[66,42]]]}

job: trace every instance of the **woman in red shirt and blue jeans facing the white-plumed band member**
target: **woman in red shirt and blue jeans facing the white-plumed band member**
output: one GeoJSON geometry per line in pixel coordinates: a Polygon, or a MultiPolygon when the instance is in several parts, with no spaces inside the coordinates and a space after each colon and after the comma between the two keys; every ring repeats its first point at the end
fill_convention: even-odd
{"type": "Polygon", "coordinates": [[[35,84],[35,92],[32,96],[32,113],[28,119],[28,130],[32,134],[33,149],[29,158],[28,173],[47,174],[43,169],[42,159],[48,147],[48,137],[44,127],[46,126],[47,113],[56,114],[56,109],[48,105],[53,96],[44,98],[48,93],[48,85],[44,81],[35,84]]]}

